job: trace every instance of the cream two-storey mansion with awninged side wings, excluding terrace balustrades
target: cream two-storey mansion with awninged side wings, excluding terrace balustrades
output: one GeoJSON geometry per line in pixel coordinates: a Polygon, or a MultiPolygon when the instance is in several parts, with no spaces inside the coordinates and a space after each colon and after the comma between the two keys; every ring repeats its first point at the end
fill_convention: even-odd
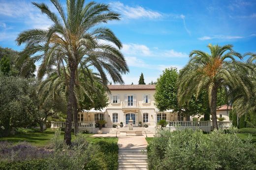
{"type": "Polygon", "coordinates": [[[182,115],[171,111],[158,112],[154,105],[155,85],[108,85],[111,93],[108,94],[109,105],[101,111],[86,111],[79,113],[79,121],[106,120],[107,127],[123,122],[128,124],[131,117],[134,126],[139,122],[156,126],[161,119],[170,121],[183,121],[182,115]]]}

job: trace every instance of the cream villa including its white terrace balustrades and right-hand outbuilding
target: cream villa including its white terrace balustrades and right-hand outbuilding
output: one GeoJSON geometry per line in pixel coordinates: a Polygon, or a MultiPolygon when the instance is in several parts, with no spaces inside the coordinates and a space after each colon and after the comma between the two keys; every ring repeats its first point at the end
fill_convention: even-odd
{"type": "MultiPolygon", "coordinates": [[[[211,130],[210,121],[186,121],[185,117],[180,113],[172,110],[160,112],[154,105],[154,94],[156,85],[108,85],[111,93],[108,93],[109,105],[100,110],[83,111],[78,114],[79,128],[87,129],[91,133],[96,133],[95,122],[105,120],[105,128],[103,133],[113,131],[113,125],[123,122],[124,127],[128,126],[130,117],[133,120],[133,126],[138,127],[139,122],[142,126],[147,124],[149,130],[155,132],[157,123],[164,119],[168,122],[167,127],[170,130],[179,128],[200,128],[204,131],[211,130]]],[[[224,116],[225,121],[219,122],[219,126],[229,127],[231,121],[228,118],[228,112],[231,108],[226,105],[217,109],[217,116],[224,116]]],[[[196,116],[194,116],[196,117],[196,116]]],[[[203,117],[203,115],[201,115],[203,117]]],[[[51,122],[51,128],[64,126],[65,122],[51,122]]]]}

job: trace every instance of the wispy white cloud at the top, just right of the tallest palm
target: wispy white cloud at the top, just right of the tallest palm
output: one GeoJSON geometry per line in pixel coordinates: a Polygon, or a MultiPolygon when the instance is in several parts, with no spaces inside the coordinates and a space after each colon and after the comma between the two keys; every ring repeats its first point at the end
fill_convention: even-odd
{"type": "Polygon", "coordinates": [[[138,18],[149,18],[149,19],[156,19],[160,18],[162,14],[159,12],[145,9],[141,6],[130,7],[128,5],[124,5],[123,3],[117,1],[110,3],[114,10],[120,12],[127,18],[130,19],[138,19],[138,18]]]}

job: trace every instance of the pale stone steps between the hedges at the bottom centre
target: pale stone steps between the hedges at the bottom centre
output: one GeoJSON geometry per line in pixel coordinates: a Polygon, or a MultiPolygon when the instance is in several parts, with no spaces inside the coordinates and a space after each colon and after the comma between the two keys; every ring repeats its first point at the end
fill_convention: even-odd
{"type": "Polygon", "coordinates": [[[147,170],[147,150],[119,149],[118,170],[147,170]]]}

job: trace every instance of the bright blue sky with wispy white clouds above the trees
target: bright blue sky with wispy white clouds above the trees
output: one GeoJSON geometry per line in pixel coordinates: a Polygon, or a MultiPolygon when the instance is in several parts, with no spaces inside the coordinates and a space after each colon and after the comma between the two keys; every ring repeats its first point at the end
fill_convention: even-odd
{"type": "MultiPolygon", "coordinates": [[[[56,11],[49,0],[33,1],[56,11]]],[[[120,21],[104,26],[123,43],[130,70],[123,75],[125,84],[138,84],[141,73],[146,84],[155,82],[165,68],[184,67],[192,50],[209,52],[209,43],[232,44],[241,54],[256,52],[256,0],[95,1],[121,14],[120,21]]],[[[21,51],[24,45],[15,42],[21,31],[51,24],[31,0],[0,0],[1,47],[21,51]]]]}

